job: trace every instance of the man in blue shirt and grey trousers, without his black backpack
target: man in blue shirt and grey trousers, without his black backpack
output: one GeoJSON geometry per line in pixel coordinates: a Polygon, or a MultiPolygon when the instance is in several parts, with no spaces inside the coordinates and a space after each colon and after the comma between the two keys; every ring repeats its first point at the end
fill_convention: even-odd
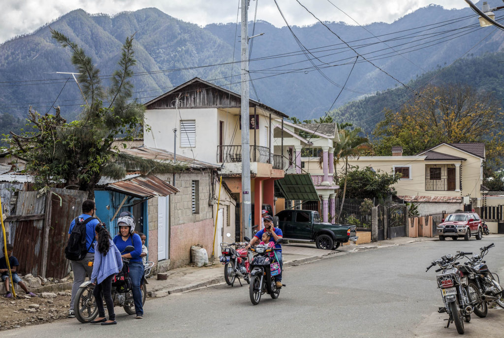
{"type": "MultiPolygon", "coordinates": [[[[78,217],[79,220],[87,220],[90,217],[94,217],[96,212],[94,201],[87,199],[82,203],[82,215],[78,217]]],[[[94,245],[95,241],[95,231],[94,228],[100,223],[97,219],[91,220],[86,224],[86,246],[89,248],[88,253],[82,260],[72,260],[72,271],[74,272],[74,284],[72,285],[72,297],[70,299],[70,310],[68,312],[69,318],[75,317],[74,311],[74,300],[79,286],[86,280],[86,274],[91,278],[91,273],[93,272],[93,267],[88,265],[90,259],[94,258],[94,245]]],[[[70,230],[68,231],[68,236],[75,226],[75,219],[70,224],[70,230]]]]}

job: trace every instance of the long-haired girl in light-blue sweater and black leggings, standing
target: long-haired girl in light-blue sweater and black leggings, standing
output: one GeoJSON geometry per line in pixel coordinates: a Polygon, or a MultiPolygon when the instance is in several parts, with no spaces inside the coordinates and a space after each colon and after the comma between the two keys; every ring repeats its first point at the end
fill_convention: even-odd
{"type": "Polygon", "coordinates": [[[93,273],[91,282],[95,284],[93,294],[98,307],[98,318],[91,320],[91,323],[101,323],[102,325],[116,324],[114,313],[114,302],[112,300],[112,278],[122,269],[121,253],[114,245],[110,235],[103,223],[95,227],[96,244],[95,259],[93,263],[93,273]],[[108,320],[105,318],[103,308],[103,298],[107,304],[108,320]]]}

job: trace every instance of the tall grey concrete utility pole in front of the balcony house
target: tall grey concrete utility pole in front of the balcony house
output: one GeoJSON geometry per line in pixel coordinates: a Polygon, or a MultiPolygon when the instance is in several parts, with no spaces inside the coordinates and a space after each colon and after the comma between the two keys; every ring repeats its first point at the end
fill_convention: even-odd
{"type": "MultiPolygon", "coordinates": [[[[244,235],[252,238],[250,198],[250,138],[248,133],[248,27],[247,10],[250,0],[241,0],[241,220],[244,235]]],[[[254,116],[255,117],[255,116],[254,116]]],[[[256,206],[261,208],[261,206],[256,206]]]]}

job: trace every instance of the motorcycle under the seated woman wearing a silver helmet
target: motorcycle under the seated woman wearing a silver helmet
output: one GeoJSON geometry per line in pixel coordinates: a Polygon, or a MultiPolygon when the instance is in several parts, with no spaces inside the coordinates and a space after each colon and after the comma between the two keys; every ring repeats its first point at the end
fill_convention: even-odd
{"type": "MultiPolygon", "coordinates": [[[[133,250],[135,250],[135,248],[129,245],[123,252],[131,252],[133,250]]],[[[129,271],[129,261],[130,260],[128,258],[122,258],[122,262],[126,266],[126,271],[129,271]]],[[[92,265],[93,259],[90,260],[89,263],[92,265]]],[[[146,264],[144,264],[144,276],[142,276],[142,281],[140,282],[142,305],[145,304],[145,298],[147,296],[147,280],[145,279],[146,272],[150,273],[153,265],[153,262],[146,262],[146,264]]],[[[119,274],[116,276],[118,275],[119,274]]],[[[121,286],[112,285],[112,300],[114,302],[114,306],[122,306],[126,313],[135,314],[135,303],[133,302],[131,285],[130,277],[127,277],[127,281],[125,281],[125,283],[121,286]]],[[[91,281],[86,281],[79,286],[79,290],[77,291],[74,301],[74,309],[75,316],[81,323],[89,323],[98,315],[98,307],[96,306],[96,301],[93,295],[94,287],[95,285],[92,284],[91,281]]],[[[106,307],[105,302],[104,306],[106,307]]]]}

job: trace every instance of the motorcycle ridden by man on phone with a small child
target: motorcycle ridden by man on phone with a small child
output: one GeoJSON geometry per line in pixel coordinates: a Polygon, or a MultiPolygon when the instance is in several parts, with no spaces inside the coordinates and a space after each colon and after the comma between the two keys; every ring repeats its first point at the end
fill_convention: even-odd
{"type": "MultiPolygon", "coordinates": [[[[248,237],[244,239],[249,242],[248,237]]],[[[279,238],[277,243],[282,243],[283,239],[279,238]]],[[[267,244],[260,244],[256,247],[250,248],[251,252],[256,253],[250,260],[250,285],[248,286],[248,293],[250,302],[257,305],[261,301],[261,296],[268,293],[271,298],[277,299],[280,295],[280,288],[275,285],[274,277],[280,274],[280,264],[273,262],[270,253],[274,253],[280,248],[268,247],[267,244]]],[[[285,286],[282,284],[282,286],[285,286]]]]}

